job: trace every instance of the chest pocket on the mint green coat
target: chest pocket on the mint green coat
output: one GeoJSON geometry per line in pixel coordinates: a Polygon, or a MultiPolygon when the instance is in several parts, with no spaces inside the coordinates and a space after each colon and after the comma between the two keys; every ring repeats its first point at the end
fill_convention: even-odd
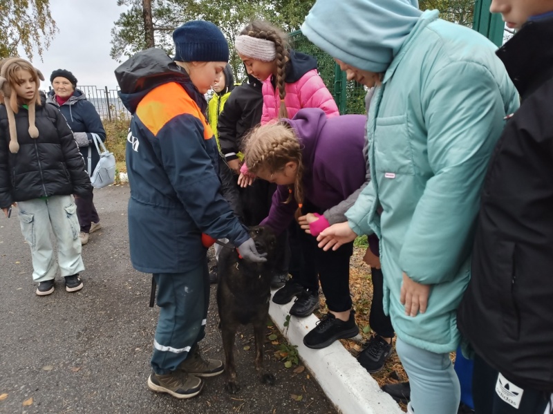
{"type": "Polygon", "coordinates": [[[374,146],[376,171],[391,175],[413,175],[413,151],[409,142],[407,115],[377,118],[374,146]]]}

